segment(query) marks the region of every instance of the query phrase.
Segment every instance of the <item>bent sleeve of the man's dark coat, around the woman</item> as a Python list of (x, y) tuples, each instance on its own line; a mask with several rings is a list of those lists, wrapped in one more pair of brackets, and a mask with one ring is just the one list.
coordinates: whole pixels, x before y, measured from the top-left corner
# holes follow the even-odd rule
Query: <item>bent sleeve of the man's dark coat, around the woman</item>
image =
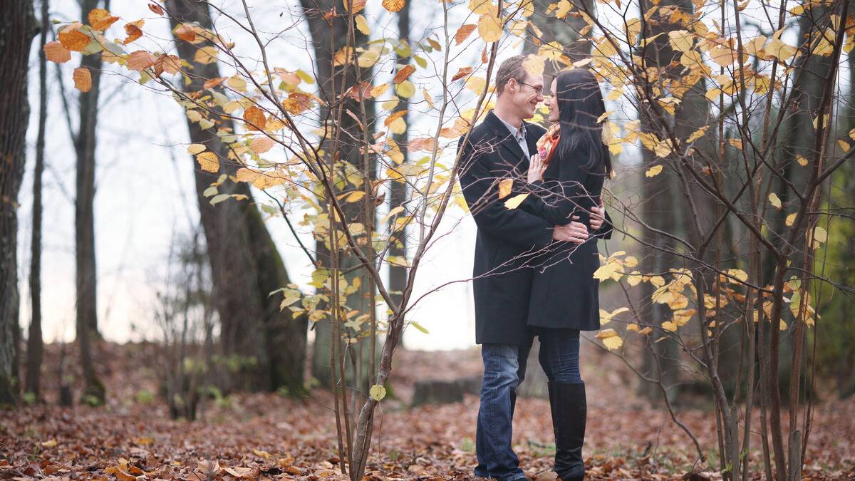
[[(471, 139), (470, 139), (471, 140)], [(540, 217), (522, 209), (508, 209), (498, 199), (498, 182), (492, 178), (488, 156), (479, 153), (471, 141), (461, 145), (460, 187), (475, 218), (475, 224), (483, 232), (523, 247), (543, 247), (552, 240), (552, 227)]]

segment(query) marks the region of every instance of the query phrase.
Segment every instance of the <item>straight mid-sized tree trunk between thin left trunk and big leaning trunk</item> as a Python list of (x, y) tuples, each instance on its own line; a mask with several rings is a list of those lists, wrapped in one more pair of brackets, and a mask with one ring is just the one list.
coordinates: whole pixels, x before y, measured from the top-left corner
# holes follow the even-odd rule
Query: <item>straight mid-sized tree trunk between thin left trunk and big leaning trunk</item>
[[(80, 3), (81, 18), (97, 9), (99, 0)], [(108, 6), (109, 8), (109, 6)], [(80, 123), (74, 139), (77, 154), (77, 196), (74, 199), (74, 253), (76, 260), (75, 286), (77, 289), (77, 341), (80, 344), (80, 363), (85, 389), (83, 401), (101, 404), (104, 401), (103, 383), (97, 378), (92, 360), (93, 336), (97, 338), (97, 269), (95, 265), (95, 149), (97, 140), (98, 94), (101, 84), (101, 56), (87, 55), (80, 61), (88, 68), (92, 86), (89, 92), (80, 92)]]

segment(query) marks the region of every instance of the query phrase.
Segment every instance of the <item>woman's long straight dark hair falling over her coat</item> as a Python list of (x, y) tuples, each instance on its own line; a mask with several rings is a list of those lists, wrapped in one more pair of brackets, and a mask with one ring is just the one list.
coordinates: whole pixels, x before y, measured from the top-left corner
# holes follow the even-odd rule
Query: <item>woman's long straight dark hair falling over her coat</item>
[(582, 169), (611, 175), (611, 157), (603, 144), (603, 124), (597, 122), (605, 113), (597, 79), (587, 68), (573, 68), (560, 72), (555, 82), (558, 122), (561, 124), (556, 153), (568, 158), (576, 149), (584, 148), (590, 156), (582, 164)]

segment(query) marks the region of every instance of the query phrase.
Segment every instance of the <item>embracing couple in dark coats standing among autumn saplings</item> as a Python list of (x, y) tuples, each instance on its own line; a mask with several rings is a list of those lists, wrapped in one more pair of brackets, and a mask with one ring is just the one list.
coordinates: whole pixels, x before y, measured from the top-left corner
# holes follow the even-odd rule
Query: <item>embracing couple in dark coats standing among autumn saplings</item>
[[(475, 475), (527, 479), (511, 448), (516, 388), (534, 336), (549, 380), (555, 465), (563, 481), (583, 479), (587, 404), (579, 333), (599, 329), (597, 240), (611, 223), (600, 193), (611, 174), (598, 122), (604, 102), (587, 68), (557, 74), (548, 95), (525, 56), (503, 62), (495, 108), (462, 149), (460, 183), (475, 218), (475, 341), (484, 377)], [(525, 122), (546, 100), (551, 128)], [(513, 179), (500, 199), (499, 182)], [(507, 184), (507, 182), (505, 182)], [(515, 209), (504, 200), (528, 196)]]

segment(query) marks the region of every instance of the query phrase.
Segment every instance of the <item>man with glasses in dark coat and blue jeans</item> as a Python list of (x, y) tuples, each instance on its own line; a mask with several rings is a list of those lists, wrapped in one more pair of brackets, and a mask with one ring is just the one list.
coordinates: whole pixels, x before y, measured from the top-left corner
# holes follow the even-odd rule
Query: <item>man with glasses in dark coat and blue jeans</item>
[[(475, 475), (500, 481), (528, 479), (510, 446), (516, 387), (525, 377), (533, 336), (527, 326), (534, 255), (552, 241), (581, 243), (587, 226), (551, 225), (526, 211), (525, 201), (508, 209), (504, 201), (525, 193), (528, 159), (545, 129), (528, 122), (543, 98), (543, 77), (523, 68), (525, 56), (504, 61), (496, 74), (495, 109), (472, 129), (462, 149), (460, 184), (478, 226), (473, 291), (475, 342), (481, 344), (484, 377), (475, 450)], [(463, 143), (463, 139), (461, 139)], [(510, 194), (498, 198), (498, 183), (513, 179)], [(595, 209), (591, 228), (602, 225)], [(576, 218), (576, 217), (575, 217)]]

